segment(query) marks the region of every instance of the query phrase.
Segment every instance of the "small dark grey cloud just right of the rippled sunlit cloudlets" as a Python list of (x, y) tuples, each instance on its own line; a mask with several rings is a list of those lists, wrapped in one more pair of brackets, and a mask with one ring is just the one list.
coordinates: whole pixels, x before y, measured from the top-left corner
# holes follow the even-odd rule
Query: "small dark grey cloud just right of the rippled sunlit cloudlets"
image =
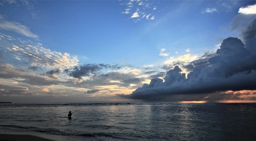
[[(74, 78), (82, 79), (84, 76), (96, 76), (99, 71), (102, 69), (116, 69), (120, 68), (118, 65), (108, 65), (108, 64), (86, 64), (86, 65), (80, 65), (75, 66), (72, 71), (70, 71), (69, 76), (72, 76)], [(64, 72), (69, 72), (65, 70)]]

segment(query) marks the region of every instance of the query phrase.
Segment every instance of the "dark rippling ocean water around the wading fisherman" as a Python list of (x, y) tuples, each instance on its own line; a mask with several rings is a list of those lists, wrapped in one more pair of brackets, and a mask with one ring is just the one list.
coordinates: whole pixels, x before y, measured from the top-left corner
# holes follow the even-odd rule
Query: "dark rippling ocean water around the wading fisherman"
[(0, 128), (80, 140), (256, 140), (256, 104), (0, 104)]

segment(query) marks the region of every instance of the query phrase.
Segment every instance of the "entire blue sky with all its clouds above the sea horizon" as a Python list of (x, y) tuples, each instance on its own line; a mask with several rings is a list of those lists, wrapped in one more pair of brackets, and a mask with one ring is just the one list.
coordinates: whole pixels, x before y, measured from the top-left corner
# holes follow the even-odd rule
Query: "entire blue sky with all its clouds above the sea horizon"
[(0, 101), (256, 102), (256, 1), (0, 1)]

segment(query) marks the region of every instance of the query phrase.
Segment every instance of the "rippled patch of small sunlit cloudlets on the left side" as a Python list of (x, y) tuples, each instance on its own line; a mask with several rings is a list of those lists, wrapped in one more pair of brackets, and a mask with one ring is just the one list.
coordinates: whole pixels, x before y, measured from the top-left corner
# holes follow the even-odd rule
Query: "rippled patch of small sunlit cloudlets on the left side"
[[(39, 44), (20, 44), (11, 47), (1, 48), (6, 52), (3, 60), (10, 61), (10, 58), (19, 60), (20, 65), (29, 65), (29, 69), (35, 68), (59, 68), (61, 71), (78, 65), (76, 56), (71, 57), (68, 53), (52, 52)], [(34, 68), (32, 68), (34, 67)]]

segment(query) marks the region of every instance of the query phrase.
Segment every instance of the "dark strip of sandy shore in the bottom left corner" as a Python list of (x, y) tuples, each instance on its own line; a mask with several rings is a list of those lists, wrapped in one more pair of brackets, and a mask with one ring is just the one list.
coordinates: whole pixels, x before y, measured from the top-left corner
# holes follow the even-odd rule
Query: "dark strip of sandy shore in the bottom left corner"
[(41, 132), (18, 132), (0, 129), (0, 141), (81, 141), (74, 137), (43, 134)]

